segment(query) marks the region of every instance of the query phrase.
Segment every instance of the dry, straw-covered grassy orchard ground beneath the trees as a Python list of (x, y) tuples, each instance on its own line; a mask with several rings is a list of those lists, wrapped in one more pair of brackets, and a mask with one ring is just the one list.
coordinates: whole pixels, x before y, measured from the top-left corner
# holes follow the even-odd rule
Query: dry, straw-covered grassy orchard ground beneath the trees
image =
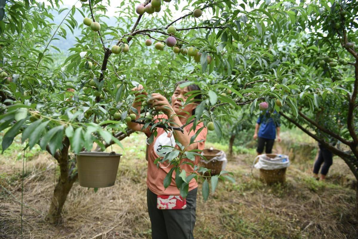
[[(2, 135), (1, 135), (2, 136)], [(266, 186), (251, 165), (253, 147), (234, 147), (227, 170), (236, 183), (219, 182), (204, 203), (201, 183), (197, 197), (194, 236), (203, 239), (238, 238), (358, 238), (353, 218), (354, 176), (338, 157), (326, 182), (311, 177), (316, 144), (299, 131), (282, 133), (275, 150), (293, 159), (285, 185)], [(115, 186), (93, 189), (74, 184), (63, 209), (63, 223), (44, 221), (59, 167), (47, 152), (28, 152), (24, 178), (24, 238), (151, 238), (146, 206), (145, 136), (132, 134), (122, 140), (123, 153)], [(19, 139), (18, 141), (19, 142)], [(252, 143), (252, 146), (254, 143)], [(228, 147), (207, 142), (206, 147)], [(111, 150), (111, 148), (108, 148)], [(22, 153), (19, 143), (0, 156), (0, 235), (21, 238)]]

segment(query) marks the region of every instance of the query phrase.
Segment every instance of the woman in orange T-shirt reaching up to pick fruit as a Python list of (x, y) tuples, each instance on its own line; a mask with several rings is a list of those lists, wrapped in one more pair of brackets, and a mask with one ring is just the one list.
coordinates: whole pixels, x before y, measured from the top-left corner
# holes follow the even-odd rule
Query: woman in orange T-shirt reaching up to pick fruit
[[(159, 122), (161, 119), (170, 119), (170, 125), (173, 127), (182, 127), (186, 124), (187, 119), (195, 115), (195, 108), (201, 99), (201, 94), (194, 97), (198, 102), (190, 102), (185, 104), (190, 91), (200, 91), (200, 88), (195, 85), (189, 85), (180, 88), (179, 85), (184, 81), (177, 82), (174, 87), (174, 93), (171, 96), (171, 103), (158, 93), (151, 94), (151, 98), (147, 101), (152, 108), (156, 111), (161, 111), (164, 114), (154, 116), (154, 123)], [(142, 85), (135, 87), (132, 91), (142, 91)], [(146, 92), (137, 93), (145, 94)], [(134, 102), (132, 104), (138, 112), (141, 111), (141, 102)], [(182, 107), (184, 106), (184, 107)], [(139, 115), (136, 119), (140, 118)], [(127, 122), (127, 125), (132, 130), (144, 132), (148, 137), (151, 135), (150, 128), (142, 129), (142, 125), (135, 122)], [(165, 145), (179, 148), (176, 142), (185, 146), (185, 151), (194, 149), (203, 150), (204, 143), (207, 135), (207, 129), (204, 128), (195, 141), (190, 144), (190, 138), (203, 127), (203, 122), (200, 122), (195, 130), (191, 130), (193, 123), (183, 127), (184, 133), (180, 131), (165, 132), (163, 128), (157, 128), (157, 135), (154, 137), (153, 142), (149, 145), (148, 150), (148, 170), (147, 170), (147, 205), (148, 213), (151, 221), (152, 238), (153, 239), (189, 239), (194, 238), (193, 230), (195, 225), (195, 209), (197, 199), (198, 183), (195, 179), (189, 182), (189, 192), (185, 199), (180, 196), (180, 191), (175, 184), (175, 171), (173, 171), (170, 185), (165, 189), (164, 178), (171, 170), (173, 165), (169, 162), (159, 163), (159, 167), (154, 164), (154, 160), (158, 157), (164, 157), (166, 152), (161, 151)], [(182, 159), (198, 165), (199, 156), (195, 157), (195, 161), (187, 158)], [(189, 164), (180, 165), (185, 172), (194, 172), (194, 169)], [(189, 174), (187, 173), (187, 176)]]

